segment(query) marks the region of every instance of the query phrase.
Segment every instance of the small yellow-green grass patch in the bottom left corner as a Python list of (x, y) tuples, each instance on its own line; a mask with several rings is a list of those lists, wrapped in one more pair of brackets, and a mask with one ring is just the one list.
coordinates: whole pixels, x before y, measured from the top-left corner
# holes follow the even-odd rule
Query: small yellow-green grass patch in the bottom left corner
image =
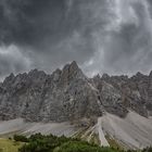
[(23, 143), (21, 142), (9, 139), (0, 139), (0, 152), (17, 152), (18, 148), (22, 145)]

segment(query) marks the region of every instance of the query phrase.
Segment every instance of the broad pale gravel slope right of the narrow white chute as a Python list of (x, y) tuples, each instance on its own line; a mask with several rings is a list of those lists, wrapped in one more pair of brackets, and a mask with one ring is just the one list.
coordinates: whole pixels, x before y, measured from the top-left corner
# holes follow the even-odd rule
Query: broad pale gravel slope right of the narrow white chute
[(105, 132), (129, 148), (142, 149), (152, 144), (151, 118), (135, 112), (129, 112), (124, 119), (106, 113), (101, 124)]

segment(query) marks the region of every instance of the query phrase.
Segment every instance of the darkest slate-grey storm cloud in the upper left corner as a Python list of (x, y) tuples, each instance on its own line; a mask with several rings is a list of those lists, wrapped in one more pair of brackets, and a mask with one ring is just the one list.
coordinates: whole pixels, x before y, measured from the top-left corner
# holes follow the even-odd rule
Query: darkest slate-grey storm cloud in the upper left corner
[(64, 0), (1, 0), (1, 40), (35, 46), (45, 37), (55, 40), (65, 31), (64, 7)]

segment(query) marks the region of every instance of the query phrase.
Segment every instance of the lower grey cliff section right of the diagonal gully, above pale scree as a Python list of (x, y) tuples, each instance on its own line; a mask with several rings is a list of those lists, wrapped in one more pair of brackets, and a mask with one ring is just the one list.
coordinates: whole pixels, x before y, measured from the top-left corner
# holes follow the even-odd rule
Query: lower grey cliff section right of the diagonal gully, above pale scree
[(132, 110), (142, 116), (152, 115), (152, 76), (137, 73), (127, 76), (109, 76), (93, 78), (102, 97), (102, 104), (110, 113), (125, 116)]

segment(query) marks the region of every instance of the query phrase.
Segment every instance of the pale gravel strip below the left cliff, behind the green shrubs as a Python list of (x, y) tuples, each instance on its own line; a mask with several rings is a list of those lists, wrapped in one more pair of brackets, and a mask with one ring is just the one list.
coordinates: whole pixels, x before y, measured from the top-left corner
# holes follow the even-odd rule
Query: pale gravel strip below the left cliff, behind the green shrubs
[(56, 136), (72, 136), (75, 134), (75, 127), (69, 123), (25, 123), (22, 118), (0, 122), (0, 135), (21, 132), (33, 135), (41, 132), (43, 135), (53, 134)]

